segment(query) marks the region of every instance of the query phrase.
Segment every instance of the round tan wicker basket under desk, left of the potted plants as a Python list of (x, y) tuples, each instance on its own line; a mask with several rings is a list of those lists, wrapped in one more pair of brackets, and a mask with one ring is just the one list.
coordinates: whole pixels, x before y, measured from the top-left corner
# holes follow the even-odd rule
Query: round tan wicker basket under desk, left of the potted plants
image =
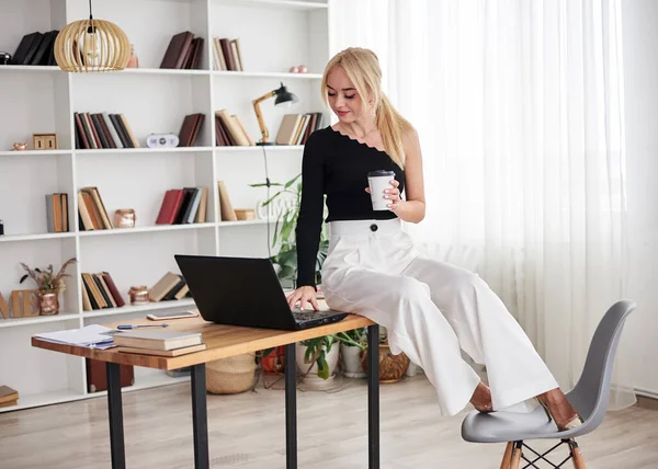
[(251, 389), (254, 376), (254, 353), (217, 359), (206, 365), (206, 389), (213, 394), (237, 394)]

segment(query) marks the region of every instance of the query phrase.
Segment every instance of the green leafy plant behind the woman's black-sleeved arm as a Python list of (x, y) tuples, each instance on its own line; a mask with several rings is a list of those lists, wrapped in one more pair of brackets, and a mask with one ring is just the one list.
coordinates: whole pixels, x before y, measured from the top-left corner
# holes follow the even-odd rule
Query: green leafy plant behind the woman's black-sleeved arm
[[(272, 247), (281, 243), (279, 253), (272, 255), (271, 261), (281, 267), (279, 278), (294, 283), (297, 277), (297, 241), (295, 236), (295, 227), (299, 217), (299, 207), (302, 204), (302, 173), (297, 174), (285, 183), (270, 183), (271, 186), (282, 187), (279, 192), (262, 203), (263, 207), (268, 207), (277, 198), (284, 195), (292, 197), (292, 203), (286, 206), (274, 225), (274, 236), (272, 237)], [(251, 187), (264, 187), (265, 183), (250, 184)], [(329, 236), (327, 226), (322, 224), (320, 232), (320, 244), (316, 258), (315, 281), (316, 284), (321, 283), (321, 270), (327, 251), (329, 250)]]

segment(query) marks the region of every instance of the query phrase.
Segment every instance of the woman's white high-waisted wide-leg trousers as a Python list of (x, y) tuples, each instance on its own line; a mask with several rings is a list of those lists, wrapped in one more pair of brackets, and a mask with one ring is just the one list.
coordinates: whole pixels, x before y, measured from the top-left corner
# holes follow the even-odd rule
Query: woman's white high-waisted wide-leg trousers
[(461, 350), (486, 365), (494, 410), (523, 407), (557, 381), (498, 296), (476, 274), (418, 253), (399, 219), (332, 221), (322, 265), (331, 309), (388, 330), (394, 354), (420, 365), (442, 415), (469, 402), (480, 381)]

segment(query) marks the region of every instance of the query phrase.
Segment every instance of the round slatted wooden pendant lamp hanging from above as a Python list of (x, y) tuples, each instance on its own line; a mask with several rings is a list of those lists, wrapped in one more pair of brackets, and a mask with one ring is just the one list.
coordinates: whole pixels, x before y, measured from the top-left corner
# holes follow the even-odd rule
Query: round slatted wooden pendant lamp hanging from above
[(89, 20), (67, 24), (55, 39), (55, 60), (71, 72), (123, 70), (131, 59), (128, 36), (116, 24), (94, 20), (89, 0)]

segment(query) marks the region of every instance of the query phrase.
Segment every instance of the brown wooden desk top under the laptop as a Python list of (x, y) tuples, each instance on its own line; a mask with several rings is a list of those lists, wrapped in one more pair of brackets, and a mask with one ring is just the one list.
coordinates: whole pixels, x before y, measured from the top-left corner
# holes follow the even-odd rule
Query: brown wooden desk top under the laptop
[[(109, 328), (125, 323), (125, 321), (106, 324)], [(132, 324), (152, 324), (148, 319), (132, 320)], [(178, 369), (200, 363), (213, 362), (218, 358), (239, 355), (248, 352), (257, 352), (293, 342), (318, 338), (320, 335), (334, 334), (337, 332), (351, 331), (353, 329), (373, 325), (370, 319), (358, 314), (349, 314), (342, 321), (332, 324), (310, 328), (303, 331), (281, 331), (274, 329), (245, 328), (237, 325), (215, 324), (206, 322), (201, 317), (189, 319), (168, 320), (168, 329), (185, 332), (201, 332), (202, 342), (206, 350), (177, 357), (162, 357), (155, 355), (139, 355), (133, 353), (116, 352), (113, 348), (94, 350), (76, 345), (56, 344), (32, 338), (32, 345), (54, 352), (69, 355), (83, 356), (87, 358), (113, 362), (123, 365), (144, 366), (158, 369)]]

